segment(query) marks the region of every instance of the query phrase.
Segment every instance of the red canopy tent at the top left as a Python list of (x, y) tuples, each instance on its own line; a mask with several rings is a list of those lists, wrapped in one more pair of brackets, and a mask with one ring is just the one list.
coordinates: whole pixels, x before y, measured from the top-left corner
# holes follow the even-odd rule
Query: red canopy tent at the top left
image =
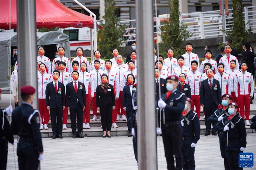
[[(11, 2), (11, 22), (10, 18)], [(17, 27), (16, 0), (0, 0), (0, 29)], [(26, 24), (26, 23), (24, 23)], [(93, 28), (93, 17), (69, 9), (58, 0), (36, 0), (36, 28)], [(98, 28), (102, 28), (97, 24)]]

